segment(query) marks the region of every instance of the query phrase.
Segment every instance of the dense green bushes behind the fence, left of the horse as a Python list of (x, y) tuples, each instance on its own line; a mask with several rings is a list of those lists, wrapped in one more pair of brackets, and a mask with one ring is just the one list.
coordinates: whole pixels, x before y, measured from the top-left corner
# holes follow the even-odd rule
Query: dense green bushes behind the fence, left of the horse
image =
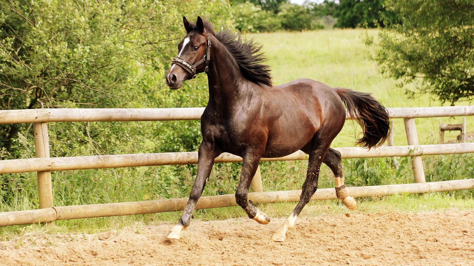
[[(185, 35), (182, 15), (226, 27), (229, 8), (226, 0), (1, 1), (0, 109), (205, 106), (205, 75), (173, 91), (164, 71)], [(201, 140), (199, 121), (48, 127), (52, 157), (196, 151)], [(35, 157), (32, 139), (31, 124), (0, 125), (0, 158)], [(194, 168), (57, 172), (55, 204), (143, 200), (142, 191), (147, 198), (183, 196), (191, 174), (181, 172)], [(2, 175), (0, 194), (2, 211), (36, 208), (36, 174)]]

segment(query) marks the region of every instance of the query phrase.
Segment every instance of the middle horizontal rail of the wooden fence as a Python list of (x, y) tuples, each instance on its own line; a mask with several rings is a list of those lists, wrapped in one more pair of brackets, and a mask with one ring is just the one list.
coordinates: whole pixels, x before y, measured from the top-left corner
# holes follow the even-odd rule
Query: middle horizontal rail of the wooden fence
[[(367, 150), (359, 147), (335, 148), (342, 158), (395, 157), (410, 155), (439, 155), (474, 152), (474, 143), (387, 146)], [(306, 160), (306, 154), (296, 151), (280, 158), (262, 158), (261, 161)], [(215, 163), (241, 162), (242, 158), (230, 153), (221, 154)], [(198, 163), (198, 152), (163, 152), (143, 154), (94, 155), (57, 158), (29, 158), (0, 160), (0, 174), (35, 171), (62, 171), (98, 168), (121, 168)]]

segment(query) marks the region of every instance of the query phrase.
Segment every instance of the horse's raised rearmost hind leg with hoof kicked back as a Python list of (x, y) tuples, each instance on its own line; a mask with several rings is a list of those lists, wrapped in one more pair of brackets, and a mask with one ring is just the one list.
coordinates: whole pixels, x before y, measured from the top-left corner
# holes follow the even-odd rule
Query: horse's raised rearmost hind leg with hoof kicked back
[(340, 199), (347, 209), (356, 209), (356, 200), (347, 193), (346, 185), (344, 184), (344, 175), (342, 173), (341, 153), (329, 148), (329, 151), (324, 157), (323, 163), (327, 165), (334, 173), (334, 184), (336, 187), (337, 198)]

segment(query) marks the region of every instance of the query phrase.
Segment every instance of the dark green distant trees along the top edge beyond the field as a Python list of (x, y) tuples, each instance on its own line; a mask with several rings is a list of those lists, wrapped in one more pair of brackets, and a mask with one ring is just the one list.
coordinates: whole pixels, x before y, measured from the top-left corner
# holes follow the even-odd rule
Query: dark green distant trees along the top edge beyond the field
[(334, 27), (385, 27), (387, 23), (398, 22), (397, 14), (385, 8), (385, 0), (340, 0), (327, 6), (337, 18)]

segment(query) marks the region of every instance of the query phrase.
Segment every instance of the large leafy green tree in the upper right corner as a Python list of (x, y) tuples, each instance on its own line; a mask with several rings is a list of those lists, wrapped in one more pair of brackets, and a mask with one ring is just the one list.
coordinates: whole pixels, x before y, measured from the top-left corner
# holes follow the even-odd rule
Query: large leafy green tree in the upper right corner
[[(454, 105), (474, 98), (474, 2), (412, 0), (387, 2), (401, 18), (379, 34), (374, 60), (402, 88), (430, 93)], [(372, 38), (367, 44), (374, 44)]]

